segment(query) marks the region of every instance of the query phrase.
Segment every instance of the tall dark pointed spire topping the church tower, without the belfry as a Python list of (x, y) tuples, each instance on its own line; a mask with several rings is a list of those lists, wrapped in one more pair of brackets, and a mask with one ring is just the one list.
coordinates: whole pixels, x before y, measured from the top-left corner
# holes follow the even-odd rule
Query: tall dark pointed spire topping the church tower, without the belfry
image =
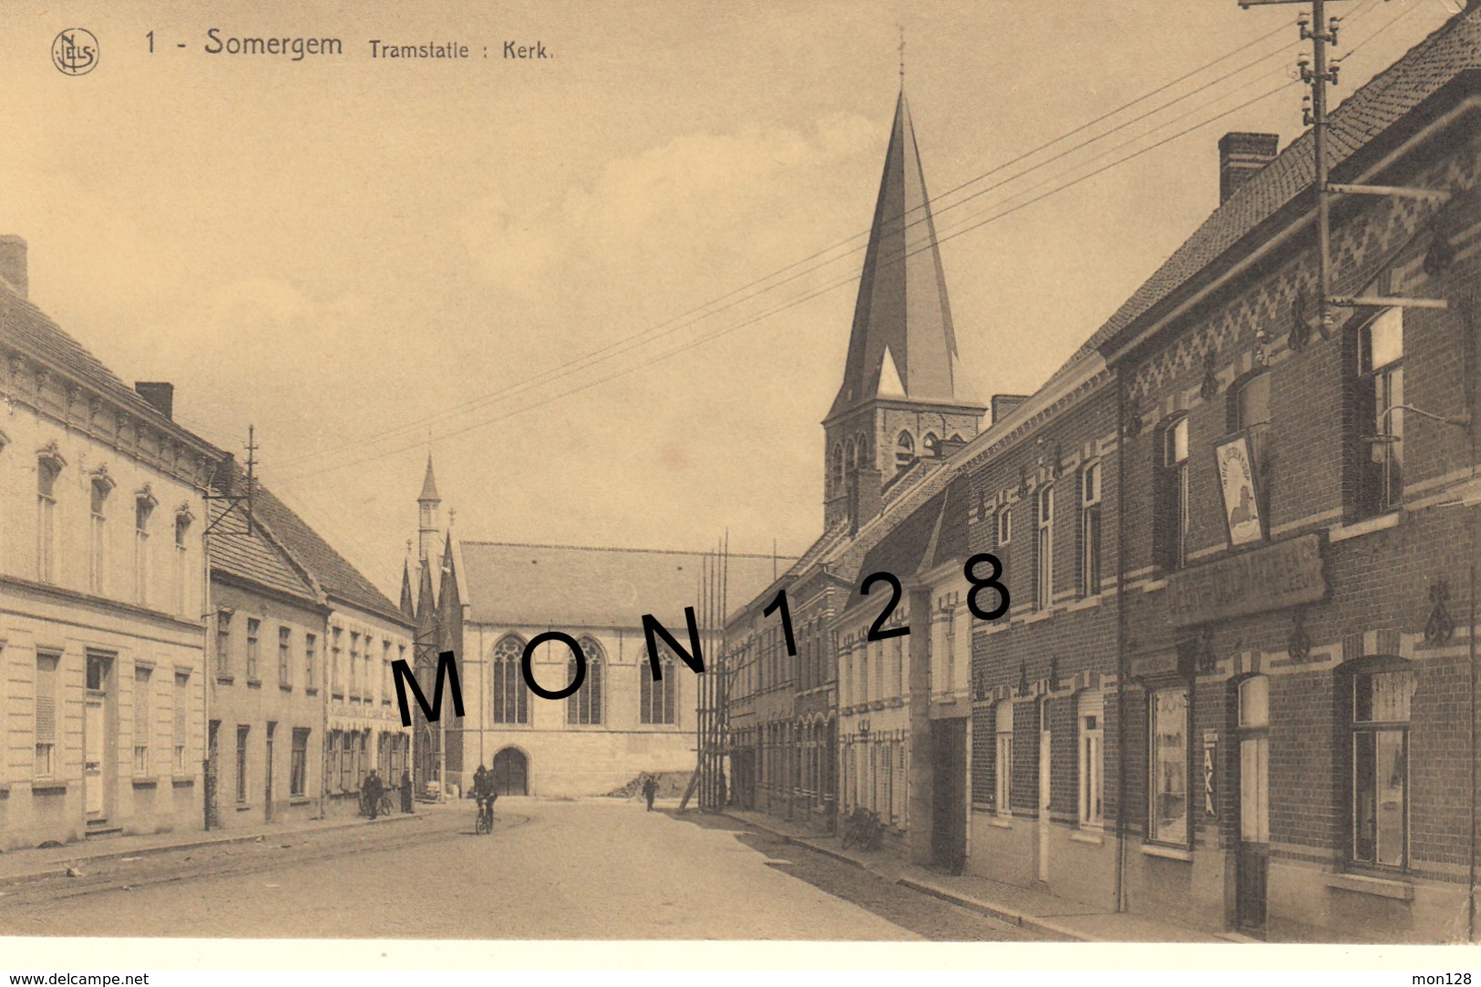
[[(902, 37), (902, 71), (903, 55)], [(902, 77), (859, 279), (849, 362), (828, 418), (880, 396), (881, 385), (893, 391), (892, 370), (906, 400), (969, 403), (955, 379), (957, 335), (929, 202)], [(895, 366), (887, 369), (887, 360)]]

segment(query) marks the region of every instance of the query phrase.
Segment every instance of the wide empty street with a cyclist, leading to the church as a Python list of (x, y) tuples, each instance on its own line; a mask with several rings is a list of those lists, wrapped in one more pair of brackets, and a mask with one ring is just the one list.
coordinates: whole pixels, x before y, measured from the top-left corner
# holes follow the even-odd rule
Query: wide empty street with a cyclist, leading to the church
[[(0, 888), (0, 934), (293, 938), (1025, 940), (729, 818), (502, 799), (422, 818), (98, 861)], [(758, 903), (766, 903), (760, 905)]]

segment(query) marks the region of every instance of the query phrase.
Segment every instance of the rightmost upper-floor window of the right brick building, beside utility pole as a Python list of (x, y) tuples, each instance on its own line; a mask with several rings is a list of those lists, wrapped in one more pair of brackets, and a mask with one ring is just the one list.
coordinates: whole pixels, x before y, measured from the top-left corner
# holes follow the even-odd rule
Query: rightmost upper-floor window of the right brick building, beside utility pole
[(1404, 495), (1404, 310), (1386, 308), (1358, 330), (1358, 511), (1394, 510)]

